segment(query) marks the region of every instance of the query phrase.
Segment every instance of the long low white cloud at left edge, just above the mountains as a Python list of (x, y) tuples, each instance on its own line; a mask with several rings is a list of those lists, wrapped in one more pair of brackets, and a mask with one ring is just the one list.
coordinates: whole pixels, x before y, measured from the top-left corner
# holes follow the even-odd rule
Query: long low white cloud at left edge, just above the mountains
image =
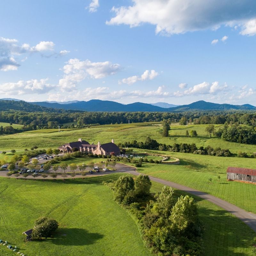
[(22, 95), (36, 93), (41, 94), (49, 92), (55, 85), (47, 83), (46, 79), (31, 79), (28, 81), (20, 80), (17, 83), (0, 84), (0, 91), (5, 95)]

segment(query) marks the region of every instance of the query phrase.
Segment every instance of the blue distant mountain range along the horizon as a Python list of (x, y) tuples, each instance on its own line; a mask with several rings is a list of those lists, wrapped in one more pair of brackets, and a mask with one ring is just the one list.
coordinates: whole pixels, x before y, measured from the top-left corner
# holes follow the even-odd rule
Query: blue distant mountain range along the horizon
[[(204, 100), (196, 101), (188, 105), (181, 105), (175, 107), (166, 108), (168, 103), (158, 102), (155, 105), (141, 102), (134, 102), (131, 104), (121, 104), (115, 101), (109, 100), (89, 100), (89, 101), (67, 101), (67, 102), (26, 102), (18, 101), (16, 99), (0, 100), (0, 110), (16, 109), (24, 110), (30, 108), (30, 111), (46, 111), (47, 108), (52, 109), (65, 109), (65, 110), (80, 110), (80, 111), (106, 111), (106, 112), (183, 112), (189, 110), (256, 110), (256, 107), (250, 104), (244, 105), (231, 105), (231, 104), (218, 104), (206, 102)], [(160, 106), (165, 107), (160, 107)], [(168, 105), (166, 105), (168, 104)], [(33, 107), (31, 106), (33, 105)], [(38, 108), (39, 107), (39, 108)], [(39, 111), (40, 111), (39, 110)]]

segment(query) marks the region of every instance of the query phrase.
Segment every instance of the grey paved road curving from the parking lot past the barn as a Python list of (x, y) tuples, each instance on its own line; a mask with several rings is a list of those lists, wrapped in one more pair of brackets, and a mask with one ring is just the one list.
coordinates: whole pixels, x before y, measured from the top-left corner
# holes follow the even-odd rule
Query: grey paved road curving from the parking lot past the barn
[[(86, 176), (97, 176), (97, 175), (106, 175), (106, 174), (110, 174), (110, 173), (116, 173), (116, 172), (126, 172), (126, 173), (130, 173), (132, 175), (140, 175), (141, 173), (136, 172), (136, 169), (132, 166), (129, 165), (125, 165), (125, 164), (119, 164), (116, 163), (116, 171), (108, 171), (108, 172), (95, 172), (93, 174), (86, 174)], [(6, 176), (6, 171), (1, 171), (0, 172), (0, 176)], [(82, 175), (76, 175), (76, 178), (81, 178)], [(14, 177), (13, 177), (14, 178)], [(18, 178), (24, 178), (24, 177), (18, 177)], [(237, 207), (234, 204), (230, 204), (218, 197), (209, 195), (205, 192), (196, 190), (194, 188), (189, 188), (183, 185), (180, 185), (178, 183), (174, 183), (172, 181), (168, 181), (168, 180), (163, 180), (163, 179), (159, 179), (153, 176), (149, 176), (150, 180), (159, 182), (163, 185), (169, 186), (169, 187), (173, 187), (182, 191), (185, 191), (191, 195), (195, 195), (198, 196), (200, 198), (203, 198), (205, 200), (208, 200), (209, 202), (216, 204), (218, 206), (220, 206), (221, 208), (223, 208), (224, 210), (226, 210), (227, 212), (232, 213), (233, 215), (235, 215), (238, 219), (242, 220), (246, 225), (248, 225), (250, 228), (252, 228), (252, 230), (254, 230), (256, 232), (256, 214), (254, 213), (250, 213), (250, 212), (246, 212), (243, 209)], [(32, 179), (32, 177), (31, 177)], [(33, 178), (34, 179), (34, 178)], [(39, 175), (38, 177), (36, 177), (36, 179), (42, 179), (42, 177)], [(53, 179), (52, 177), (48, 176), (46, 179)], [(60, 179), (63, 179), (62, 177)], [(67, 177), (67, 179), (70, 179), (70, 177)]]

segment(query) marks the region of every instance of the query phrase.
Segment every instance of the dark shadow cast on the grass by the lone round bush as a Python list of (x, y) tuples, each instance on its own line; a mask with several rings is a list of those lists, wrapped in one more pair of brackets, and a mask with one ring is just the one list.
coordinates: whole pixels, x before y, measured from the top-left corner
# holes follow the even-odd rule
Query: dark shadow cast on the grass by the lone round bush
[(33, 240), (35, 242), (51, 243), (56, 245), (89, 245), (102, 239), (104, 235), (100, 233), (90, 233), (83, 228), (59, 228), (53, 238)]

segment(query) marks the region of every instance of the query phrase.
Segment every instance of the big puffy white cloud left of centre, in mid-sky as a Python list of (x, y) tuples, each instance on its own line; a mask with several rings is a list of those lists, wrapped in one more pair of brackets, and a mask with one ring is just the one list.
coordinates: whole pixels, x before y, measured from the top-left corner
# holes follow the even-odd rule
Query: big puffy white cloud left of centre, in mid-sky
[(119, 70), (120, 65), (112, 64), (110, 61), (92, 62), (90, 60), (70, 59), (63, 67), (64, 76), (60, 79), (59, 85), (63, 91), (72, 91), (76, 84), (83, 81), (87, 76), (100, 79), (114, 75)]

